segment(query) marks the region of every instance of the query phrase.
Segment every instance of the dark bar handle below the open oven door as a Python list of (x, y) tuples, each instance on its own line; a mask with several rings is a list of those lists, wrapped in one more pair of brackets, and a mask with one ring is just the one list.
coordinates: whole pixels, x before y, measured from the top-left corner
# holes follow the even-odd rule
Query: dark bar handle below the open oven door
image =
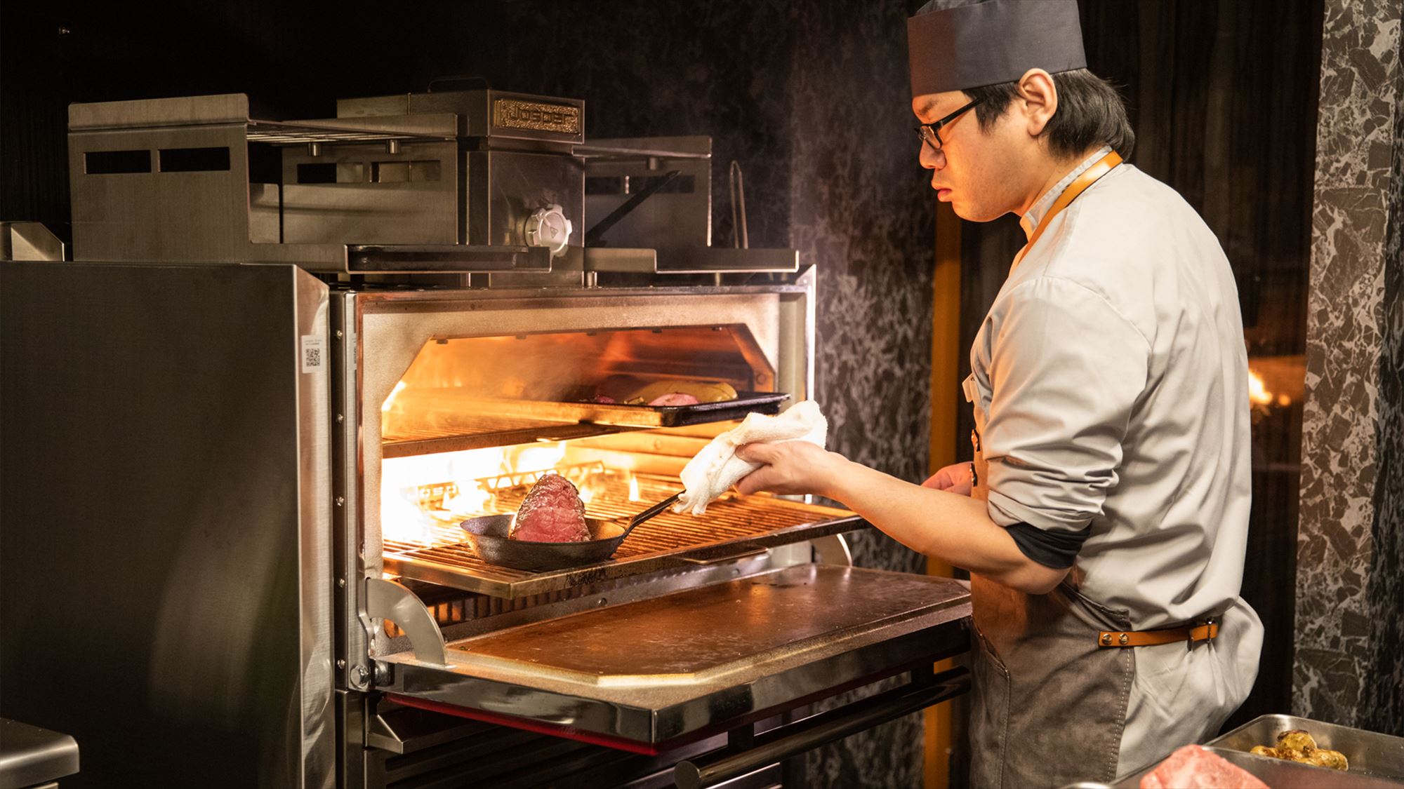
[(913, 671), (911, 682), (900, 688), (771, 729), (750, 741), (733, 733), (733, 745), (678, 762), (673, 768), (673, 781), (680, 789), (712, 786), (952, 699), (969, 689), (969, 668), (952, 668), (941, 674)]

